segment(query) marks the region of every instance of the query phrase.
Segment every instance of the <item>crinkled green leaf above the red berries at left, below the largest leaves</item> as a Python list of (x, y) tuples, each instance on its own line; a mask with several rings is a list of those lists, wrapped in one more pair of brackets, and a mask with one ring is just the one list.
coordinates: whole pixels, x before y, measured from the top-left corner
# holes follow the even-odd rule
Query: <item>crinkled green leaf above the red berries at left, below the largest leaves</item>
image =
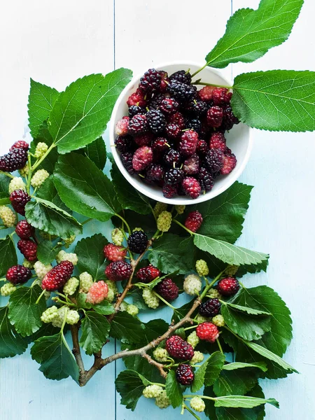
[(34, 228), (62, 238), (82, 233), (82, 225), (71, 214), (42, 198), (35, 197), (35, 200), (25, 207), (27, 221)]

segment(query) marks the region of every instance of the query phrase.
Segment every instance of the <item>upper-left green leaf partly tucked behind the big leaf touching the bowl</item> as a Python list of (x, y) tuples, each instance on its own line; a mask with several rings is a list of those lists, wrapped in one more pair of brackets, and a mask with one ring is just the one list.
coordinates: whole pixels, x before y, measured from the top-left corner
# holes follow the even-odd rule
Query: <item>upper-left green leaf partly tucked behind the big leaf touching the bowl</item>
[(59, 92), (53, 87), (42, 85), (31, 79), (28, 109), (29, 130), (33, 139), (36, 138), (42, 123), (48, 119), (57, 97), (59, 97)]

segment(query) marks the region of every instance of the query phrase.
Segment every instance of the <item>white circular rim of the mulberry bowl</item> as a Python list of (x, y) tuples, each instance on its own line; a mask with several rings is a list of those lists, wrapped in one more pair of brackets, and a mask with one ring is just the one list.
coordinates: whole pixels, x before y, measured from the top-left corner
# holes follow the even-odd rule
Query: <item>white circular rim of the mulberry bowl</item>
[[(166, 66), (198, 66), (198, 67), (202, 67), (204, 66), (204, 62), (202, 64), (200, 64), (199, 62), (192, 62), (192, 61), (184, 61), (184, 60), (176, 60), (174, 62), (162, 62), (155, 64), (154, 62), (152, 63), (152, 67), (154, 67), (155, 69), (162, 69), (163, 67)], [(211, 71), (212, 73), (215, 73), (217, 76), (220, 76), (221, 78), (223, 78), (223, 80), (225, 80), (225, 82), (227, 83), (227, 85), (232, 86), (233, 83), (230, 80), (230, 78), (225, 77), (225, 75), (223, 75), (223, 73), (220, 70), (214, 69), (212, 67), (206, 67), (209, 71)], [(151, 198), (152, 200), (158, 201), (158, 202), (163, 202), (165, 204), (176, 204), (176, 205), (194, 205), (194, 204), (199, 204), (202, 202), (206, 202), (208, 200), (212, 200), (214, 197), (217, 197), (218, 195), (224, 193), (225, 190), (228, 190), (228, 188), (230, 188), (230, 186), (232, 186), (233, 183), (235, 183), (235, 181), (237, 181), (237, 179), (239, 178), (239, 176), (241, 176), (241, 174), (244, 172), (244, 169), (248, 163), (249, 157), (251, 155), (251, 151), (253, 148), (253, 128), (249, 127), (249, 125), (246, 125), (246, 127), (248, 127), (248, 146), (246, 149), (246, 154), (244, 156), (243, 161), (241, 162), (241, 165), (239, 165), (239, 168), (237, 170), (237, 172), (235, 172), (235, 174), (233, 174), (230, 176), (229, 179), (227, 179), (226, 183), (223, 184), (223, 186), (219, 187), (216, 191), (211, 190), (209, 191), (209, 193), (205, 193), (204, 195), (200, 195), (199, 197), (197, 197), (196, 199), (192, 200), (191, 198), (181, 198), (181, 197), (176, 197), (176, 198), (166, 198), (164, 196), (162, 197), (157, 197), (157, 195), (155, 194), (154, 190), (152, 191), (147, 191), (145, 188), (143, 188), (141, 185), (139, 185), (139, 183), (137, 183), (136, 181), (134, 181), (133, 177), (128, 174), (127, 170), (125, 169), (125, 167), (123, 166), (123, 163), (120, 160), (120, 157), (118, 155), (118, 152), (116, 151), (116, 148), (114, 146), (114, 140), (116, 138), (116, 134), (115, 134), (115, 126), (116, 126), (116, 113), (118, 111), (118, 108), (120, 106), (120, 103), (123, 101), (123, 97), (125, 97), (126, 92), (128, 92), (130, 90), (131, 87), (133, 87), (136, 83), (139, 83), (140, 78), (143, 76), (144, 73), (138, 73), (136, 76), (134, 76), (132, 78), (132, 80), (130, 80), (130, 82), (124, 87), (124, 89), (122, 90), (122, 92), (120, 92), (120, 95), (116, 101), (115, 106), (113, 107), (113, 112), (111, 114), (111, 120), (109, 122), (109, 145), (111, 148), (111, 152), (113, 154), (113, 158), (116, 162), (116, 165), (118, 166), (118, 169), (120, 170), (121, 174), (123, 174), (124, 178), (126, 179), (127, 182), (129, 182), (137, 191), (139, 191), (139, 193), (143, 194), (146, 197)], [(243, 123), (241, 123), (243, 124)], [(113, 151), (112, 151), (113, 148)], [(212, 194), (211, 194), (212, 193)], [(209, 197), (209, 195), (211, 194), (211, 197)]]

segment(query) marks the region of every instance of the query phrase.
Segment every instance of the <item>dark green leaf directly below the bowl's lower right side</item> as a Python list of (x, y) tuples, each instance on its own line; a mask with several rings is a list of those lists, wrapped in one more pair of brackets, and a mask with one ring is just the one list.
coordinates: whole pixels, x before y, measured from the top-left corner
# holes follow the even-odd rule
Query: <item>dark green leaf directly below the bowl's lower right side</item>
[(241, 235), (253, 187), (235, 182), (224, 193), (195, 207), (204, 221), (198, 233), (234, 243)]

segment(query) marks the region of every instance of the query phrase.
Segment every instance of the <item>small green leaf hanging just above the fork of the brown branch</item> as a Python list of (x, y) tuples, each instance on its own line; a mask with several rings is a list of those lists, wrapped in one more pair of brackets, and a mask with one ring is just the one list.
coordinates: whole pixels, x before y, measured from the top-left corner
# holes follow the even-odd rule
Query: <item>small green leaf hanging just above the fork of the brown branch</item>
[(80, 337), (80, 346), (85, 350), (85, 353), (91, 356), (101, 350), (109, 337), (110, 329), (111, 324), (105, 316), (93, 311), (85, 312)]

